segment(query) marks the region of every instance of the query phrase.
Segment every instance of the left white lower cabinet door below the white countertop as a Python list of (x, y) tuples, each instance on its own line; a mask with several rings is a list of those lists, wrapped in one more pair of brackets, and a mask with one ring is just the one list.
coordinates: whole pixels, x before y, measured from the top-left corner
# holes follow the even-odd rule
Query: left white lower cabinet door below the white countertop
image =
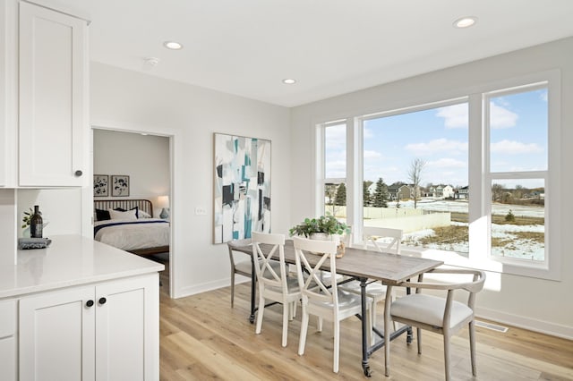
[(94, 379), (93, 286), (25, 297), (19, 309), (21, 381)]

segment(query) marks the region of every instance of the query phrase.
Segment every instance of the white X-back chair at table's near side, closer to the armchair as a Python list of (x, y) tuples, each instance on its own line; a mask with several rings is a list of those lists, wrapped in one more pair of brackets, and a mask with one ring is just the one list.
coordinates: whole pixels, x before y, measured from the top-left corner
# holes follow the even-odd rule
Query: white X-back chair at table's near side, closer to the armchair
[[(336, 275), (337, 243), (335, 241), (315, 241), (301, 237), (293, 239), (295, 245), (296, 274), (300, 284), (303, 312), (298, 354), (304, 354), (309, 317), (319, 320), (318, 330), (322, 331), (322, 319), (332, 321), (334, 331), (334, 353), (332, 371), (338, 373), (340, 351), (340, 321), (362, 313), (360, 296), (338, 290), (336, 282), (324, 284), (321, 279), (321, 267), (327, 266), (332, 275)], [(314, 254), (318, 253), (318, 254)], [(304, 276), (306, 273), (306, 276)], [(371, 301), (366, 301), (366, 325), (372, 330)]]

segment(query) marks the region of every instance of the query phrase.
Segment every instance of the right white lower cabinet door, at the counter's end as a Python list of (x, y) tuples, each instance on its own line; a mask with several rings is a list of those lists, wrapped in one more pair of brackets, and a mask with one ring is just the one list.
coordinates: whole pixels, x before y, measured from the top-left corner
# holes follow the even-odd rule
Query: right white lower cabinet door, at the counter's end
[(96, 287), (96, 379), (159, 379), (157, 274)]

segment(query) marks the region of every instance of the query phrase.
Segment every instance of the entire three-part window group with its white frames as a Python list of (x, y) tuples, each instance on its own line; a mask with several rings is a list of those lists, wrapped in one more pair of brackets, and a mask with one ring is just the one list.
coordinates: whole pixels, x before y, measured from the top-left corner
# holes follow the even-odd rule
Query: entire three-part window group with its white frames
[(447, 264), (559, 278), (558, 77), (319, 125), (321, 209)]

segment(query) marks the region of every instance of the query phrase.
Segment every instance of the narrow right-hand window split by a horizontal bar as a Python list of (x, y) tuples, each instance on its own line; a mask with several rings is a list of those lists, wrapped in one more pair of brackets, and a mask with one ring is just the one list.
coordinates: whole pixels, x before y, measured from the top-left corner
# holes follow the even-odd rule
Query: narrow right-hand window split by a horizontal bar
[(484, 95), (489, 131), (491, 254), (545, 260), (547, 84)]

